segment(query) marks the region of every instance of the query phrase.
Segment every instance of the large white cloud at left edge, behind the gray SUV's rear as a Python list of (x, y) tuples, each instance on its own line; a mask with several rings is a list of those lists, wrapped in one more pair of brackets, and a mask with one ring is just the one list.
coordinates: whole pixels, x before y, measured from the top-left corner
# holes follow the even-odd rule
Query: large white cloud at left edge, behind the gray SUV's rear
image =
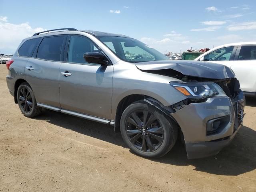
[(28, 23), (12, 24), (0, 22), (0, 52), (14, 53), (20, 42), (36, 32), (44, 31), (43, 28), (32, 28)]

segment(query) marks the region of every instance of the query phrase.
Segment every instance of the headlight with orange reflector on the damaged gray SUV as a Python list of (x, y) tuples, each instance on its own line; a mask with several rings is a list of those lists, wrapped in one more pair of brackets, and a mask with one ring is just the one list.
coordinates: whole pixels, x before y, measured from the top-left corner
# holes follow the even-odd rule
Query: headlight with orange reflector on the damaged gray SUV
[(203, 99), (209, 96), (226, 96), (222, 88), (216, 83), (170, 82), (170, 85), (191, 99)]

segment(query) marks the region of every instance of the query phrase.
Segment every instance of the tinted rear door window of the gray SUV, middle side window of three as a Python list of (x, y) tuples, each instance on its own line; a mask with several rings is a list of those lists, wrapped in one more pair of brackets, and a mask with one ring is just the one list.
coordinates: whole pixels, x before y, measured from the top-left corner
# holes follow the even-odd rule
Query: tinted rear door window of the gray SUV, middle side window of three
[(37, 58), (59, 61), (64, 36), (47, 37), (38, 47)]

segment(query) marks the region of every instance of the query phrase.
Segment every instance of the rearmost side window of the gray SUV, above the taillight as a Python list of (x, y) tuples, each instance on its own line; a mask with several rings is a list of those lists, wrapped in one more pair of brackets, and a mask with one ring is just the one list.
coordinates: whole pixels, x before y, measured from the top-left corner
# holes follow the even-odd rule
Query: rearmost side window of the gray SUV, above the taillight
[(20, 47), (18, 51), (19, 56), (31, 57), (39, 41), (40, 41), (40, 38), (36, 38), (36, 39), (30, 39), (24, 42), (24, 44)]

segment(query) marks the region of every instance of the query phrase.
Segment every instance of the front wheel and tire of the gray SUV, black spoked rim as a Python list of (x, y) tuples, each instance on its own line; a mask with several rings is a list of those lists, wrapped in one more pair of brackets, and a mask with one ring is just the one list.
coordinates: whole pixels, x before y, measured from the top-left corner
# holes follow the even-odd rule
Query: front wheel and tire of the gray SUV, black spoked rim
[(178, 136), (176, 123), (142, 100), (124, 110), (120, 130), (130, 150), (146, 158), (164, 156), (172, 149)]

